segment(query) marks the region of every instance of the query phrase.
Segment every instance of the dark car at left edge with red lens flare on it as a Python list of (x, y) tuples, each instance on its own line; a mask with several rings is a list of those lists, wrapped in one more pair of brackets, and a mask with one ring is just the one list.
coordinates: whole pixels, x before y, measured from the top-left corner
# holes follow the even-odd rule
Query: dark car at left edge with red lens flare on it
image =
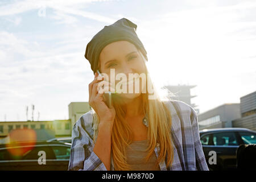
[[(20, 142), (14, 144), (1, 144), (0, 171), (67, 171), (70, 150), (70, 143), (60, 142)], [(45, 164), (43, 163), (43, 155), (45, 156), (44, 159), (46, 159)]]

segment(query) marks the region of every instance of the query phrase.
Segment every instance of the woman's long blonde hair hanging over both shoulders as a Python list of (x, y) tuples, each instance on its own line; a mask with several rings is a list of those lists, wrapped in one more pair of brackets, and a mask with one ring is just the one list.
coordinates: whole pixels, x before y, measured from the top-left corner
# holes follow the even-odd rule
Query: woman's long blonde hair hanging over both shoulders
[[(148, 73), (147, 68), (146, 72)], [(171, 113), (166, 104), (160, 99), (155, 86), (152, 84), (151, 78), (148, 78), (149, 79), (147, 79), (146, 82), (147, 84), (148, 82), (151, 82), (152, 89), (154, 89), (155, 99), (148, 99), (148, 90), (146, 93), (141, 93), (143, 112), (148, 120), (147, 138), (149, 144), (147, 148), (148, 154), (145, 160), (147, 161), (150, 159), (151, 155), (154, 155), (156, 144), (159, 143), (160, 151), (158, 153), (156, 165), (159, 165), (160, 162), (165, 160), (166, 165), (171, 166), (174, 158), (174, 147), (171, 137)], [(118, 99), (120, 99), (118, 96), (114, 96), (113, 98), (113, 106), (116, 114), (111, 136), (112, 157), (115, 170), (127, 171), (131, 170), (131, 167), (127, 164), (126, 147), (133, 142), (133, 139), (130, 125), (125, 119), (125, 107), (119, 104)], [(96, 125), (100, 122), (97, 114), (94, 114), (93, 120)], [(96, 140), (97, 132), (98, 131), (94, 132), (94, 142)]]

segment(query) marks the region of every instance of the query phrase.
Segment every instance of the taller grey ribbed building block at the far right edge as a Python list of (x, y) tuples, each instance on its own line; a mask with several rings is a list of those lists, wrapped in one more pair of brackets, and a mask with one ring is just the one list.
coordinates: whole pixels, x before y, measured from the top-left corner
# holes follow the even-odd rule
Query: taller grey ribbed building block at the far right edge
[(240, 98), (241, 118), (233, 121), (233, 127), (245, 127), (256, 131), (256, 91)]

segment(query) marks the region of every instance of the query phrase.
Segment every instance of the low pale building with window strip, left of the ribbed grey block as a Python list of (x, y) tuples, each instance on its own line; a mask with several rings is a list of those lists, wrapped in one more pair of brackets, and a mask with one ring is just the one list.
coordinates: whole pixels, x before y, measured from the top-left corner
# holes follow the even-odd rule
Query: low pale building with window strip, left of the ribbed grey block
[(240, 104), (223, 104), (197, 115), (199, 129), (233, 127), (232, 121), (241, 118)]

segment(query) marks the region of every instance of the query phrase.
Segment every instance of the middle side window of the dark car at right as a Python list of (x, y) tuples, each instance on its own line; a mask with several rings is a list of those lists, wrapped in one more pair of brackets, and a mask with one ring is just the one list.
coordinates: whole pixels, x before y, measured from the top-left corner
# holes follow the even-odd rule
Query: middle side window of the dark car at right
[(223, 132), (213, 134), (214, 146), (238, 146), (234, 132)]

